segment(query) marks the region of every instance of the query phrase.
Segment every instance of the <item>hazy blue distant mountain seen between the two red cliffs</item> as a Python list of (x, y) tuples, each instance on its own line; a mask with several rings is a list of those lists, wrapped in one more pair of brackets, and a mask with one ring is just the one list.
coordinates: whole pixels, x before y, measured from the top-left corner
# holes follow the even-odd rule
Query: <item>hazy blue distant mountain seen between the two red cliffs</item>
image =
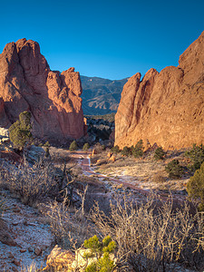
[(84, 114), (101, 115), (117, 112), (121, 91), (128, 78), (112, 81), (81, 75), (81, 81)]

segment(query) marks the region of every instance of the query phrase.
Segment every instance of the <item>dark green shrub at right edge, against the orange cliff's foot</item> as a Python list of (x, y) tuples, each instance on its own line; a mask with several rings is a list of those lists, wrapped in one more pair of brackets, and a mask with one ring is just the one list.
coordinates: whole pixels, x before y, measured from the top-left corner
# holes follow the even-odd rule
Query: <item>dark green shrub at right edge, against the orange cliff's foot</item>
[(192, 149), (185, 152), (185, 156), (192, 161), (189, 169), (193, 171), (198, 170), (204, 161), (204, 146), (202, 144), (198, 146), (194, 143)]

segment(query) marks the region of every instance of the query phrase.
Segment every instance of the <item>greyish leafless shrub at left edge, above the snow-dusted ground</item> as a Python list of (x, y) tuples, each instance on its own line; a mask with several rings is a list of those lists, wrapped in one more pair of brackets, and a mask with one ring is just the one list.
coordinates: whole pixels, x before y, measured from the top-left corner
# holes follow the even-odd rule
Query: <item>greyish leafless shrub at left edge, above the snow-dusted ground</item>
[(1, 184), (17, 195), (24, 204), (34, 205), (59, 190), (56, 170), (49, 162), (15, 166), (4, 162), (1, 166)]

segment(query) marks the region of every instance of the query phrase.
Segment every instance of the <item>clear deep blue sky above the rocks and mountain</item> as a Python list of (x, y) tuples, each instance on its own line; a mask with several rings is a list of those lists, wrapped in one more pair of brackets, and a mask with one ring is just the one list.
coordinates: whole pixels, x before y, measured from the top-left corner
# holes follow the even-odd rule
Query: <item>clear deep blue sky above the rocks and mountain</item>
[(10, 0), (0, 8), (0, 52), (32, 39), (52, 70), (109, 79), (177, 66), (204, 30), (204, 0)]

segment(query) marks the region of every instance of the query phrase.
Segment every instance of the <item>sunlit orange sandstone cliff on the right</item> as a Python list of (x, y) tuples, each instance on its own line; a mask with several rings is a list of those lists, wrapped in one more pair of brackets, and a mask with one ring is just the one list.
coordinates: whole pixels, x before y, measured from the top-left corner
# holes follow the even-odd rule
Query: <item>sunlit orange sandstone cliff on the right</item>
[(136, 73), (124, 85), (115, 116), (115, 145), (143, 140), (164, 149), (204, 143), (204, 32), (178, 67)]

